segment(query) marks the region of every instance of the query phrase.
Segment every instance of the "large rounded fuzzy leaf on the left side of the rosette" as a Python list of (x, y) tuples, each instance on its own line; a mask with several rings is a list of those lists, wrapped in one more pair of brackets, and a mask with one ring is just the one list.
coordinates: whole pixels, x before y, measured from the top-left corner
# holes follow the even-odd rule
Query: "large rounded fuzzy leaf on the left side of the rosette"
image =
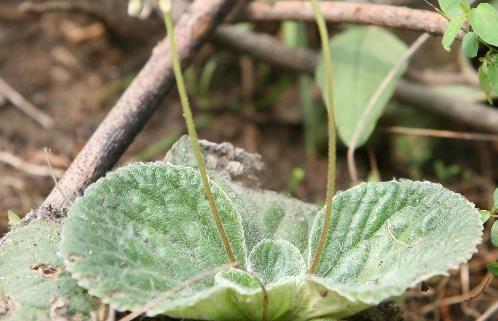
[[(244, 266), (240, 214), (217, 184), (212, 189), (230, 245)], [(80, 286), (125, 310), (229, 263), (198, 172), (160, 162), (130, 165), (91, 185), (69, 210), (61, 252)], [(189, 296), (213, 282), (207, 278)]]

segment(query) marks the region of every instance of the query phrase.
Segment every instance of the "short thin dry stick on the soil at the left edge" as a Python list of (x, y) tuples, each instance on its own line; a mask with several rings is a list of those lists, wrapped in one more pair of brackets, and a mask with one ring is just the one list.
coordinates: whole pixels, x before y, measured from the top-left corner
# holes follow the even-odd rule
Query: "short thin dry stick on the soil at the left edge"
[(4, 96), (5, 98), (7, 98), (14, 106), (19, 108), (23, 113), (25, 113), (29, 118), (34, 120), (41, 127), (54, 127), (55, 121), (52, 119), (52, 117), (36, 108), (1, 77), (0, 96)]

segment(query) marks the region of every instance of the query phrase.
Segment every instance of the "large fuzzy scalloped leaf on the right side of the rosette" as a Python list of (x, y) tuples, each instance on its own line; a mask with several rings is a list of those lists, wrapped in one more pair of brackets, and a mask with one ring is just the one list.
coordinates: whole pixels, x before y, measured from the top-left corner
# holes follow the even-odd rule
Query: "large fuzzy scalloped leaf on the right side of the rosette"
[[(311, 253), (323, 220), (324, 211), (313, 228)], [(334, 198), (315, 282), (352, 302), (377, 304), (470, 259), (482, 228), (474, 205), (441, 185), (363, 183)]]

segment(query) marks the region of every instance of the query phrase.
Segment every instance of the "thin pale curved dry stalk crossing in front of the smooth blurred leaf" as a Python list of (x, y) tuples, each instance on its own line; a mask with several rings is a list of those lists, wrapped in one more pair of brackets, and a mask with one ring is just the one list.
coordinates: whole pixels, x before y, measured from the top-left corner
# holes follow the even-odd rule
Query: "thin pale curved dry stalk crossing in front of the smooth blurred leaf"
[(353, 185), (358, 184), (358, 171), (356, 170), (356, 164), (354, 159), (354, 151), (356, 146), (358, 145), (358, 141), (360, 140), (361, 134), (365, 130), (365, 126), (367, 125), (368, 117), (372, 113), (375, 105), (379, 102), (379, 99), (382, 97), (382, 94), (386, 91), (387, 86), (393, 81), (394, 77), (398, 75), (403, 66), (407, 63), (408, 60), (417, 52), (418, 49), (429, 40), (430, 35), (428, 33), (423, 33), (420, 35), (415, 42), (408, 48), (408, 50), (404, 53), (404, 55), (399, 59), (399, 61), (389, 70), (389, 73), (386, 75), (380, 86), (377, 88), (373, 96), (370, 98), (367, 107), (363, 110), (360, 120), (356, 124), (355, 130), (353, 132), (353, 137), (351, 138), (351, 142), (349, 143), (347, 159), (348, 159), (348, 169), (349, 175), (351, 176), (351, 181)]

